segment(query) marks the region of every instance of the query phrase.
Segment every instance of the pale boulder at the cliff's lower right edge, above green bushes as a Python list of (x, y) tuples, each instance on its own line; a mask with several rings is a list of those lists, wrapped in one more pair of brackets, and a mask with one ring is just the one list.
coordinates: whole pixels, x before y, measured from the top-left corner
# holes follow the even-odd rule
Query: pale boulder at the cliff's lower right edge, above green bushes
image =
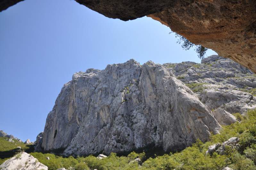
[(238, 122), (234, 115), (221, 108), (214, 110), (212, 114), (220, 125), (230, 125), (232, 123)]

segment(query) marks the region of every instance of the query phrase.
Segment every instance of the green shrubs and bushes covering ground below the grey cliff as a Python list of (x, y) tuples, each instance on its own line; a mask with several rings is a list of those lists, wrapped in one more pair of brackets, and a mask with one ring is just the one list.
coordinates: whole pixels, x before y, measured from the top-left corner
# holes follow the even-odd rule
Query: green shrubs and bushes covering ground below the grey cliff
[[(256, 170), (256, 110), (249, 110), (247, 116), (235, 114), (239, 123), (223, 126), (220, 134), (211, 135), (209, 142), (202, 143), (197, 140), (191, 147), (177, 153), (164, 155), (153, 155), (148, 157), (147, 153), (131, 152), (128, 156), (117, 156), (111, 153), (107, 158), (98, 159), (94, 156), (63, 158), (50, 153), (32, 152), (31, 145), (23, 143), (8, 142), (6, 138), (0, 138), (0, 164), (21, 150), (30, 153), (39, 162), (48, 166), (50, 170), (65, 167), (80, 169), (222, 169), (230, 167), (234, 170)], [(227, 141), (231, 137), (239, 137), (239, 149), (225, 148), (225, 154), (219, 155), (214, 152), (211, 156), (206, 154), (208, 147), (212, 144)], [(21, 146), (21, 149), (17, 149)], [(49, 157), (50, 160), (47, 160)], [(140, 158), (141, 162), (132, 162)]]

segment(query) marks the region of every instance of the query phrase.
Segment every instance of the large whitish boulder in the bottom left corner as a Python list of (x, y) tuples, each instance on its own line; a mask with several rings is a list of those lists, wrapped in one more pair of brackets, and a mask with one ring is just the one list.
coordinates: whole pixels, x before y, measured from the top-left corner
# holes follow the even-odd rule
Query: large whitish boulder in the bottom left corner
[(0, 165), (1, 170), (35, 170), (44, 169), (48, 170), (48, 167), (38, 162), (36, 158), (29, 155), (26, 152), (21, 152), (16, 156), (6, 160), (2, 165)]

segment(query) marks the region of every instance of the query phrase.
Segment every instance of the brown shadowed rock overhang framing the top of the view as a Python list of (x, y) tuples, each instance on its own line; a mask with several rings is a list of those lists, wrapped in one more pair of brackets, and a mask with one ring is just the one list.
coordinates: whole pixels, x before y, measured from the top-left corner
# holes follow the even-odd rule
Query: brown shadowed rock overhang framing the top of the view
[[(0, 11), (21, 0), (3, 0)], [(256, 73), (256, 3), (228, 0), (76, 0), (109, 18), (149, 16)]]

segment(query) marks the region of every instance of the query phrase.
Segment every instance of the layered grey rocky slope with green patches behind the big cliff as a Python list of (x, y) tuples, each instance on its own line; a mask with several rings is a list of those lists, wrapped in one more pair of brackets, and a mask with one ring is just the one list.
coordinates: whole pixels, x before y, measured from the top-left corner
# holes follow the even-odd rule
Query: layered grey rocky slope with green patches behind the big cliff
[(164, 67), (190, 87), (211, 110), (246, 113), (256, 108), (256, 75), (240, 64), (212, 55), (195, 62), (166, 63)]

